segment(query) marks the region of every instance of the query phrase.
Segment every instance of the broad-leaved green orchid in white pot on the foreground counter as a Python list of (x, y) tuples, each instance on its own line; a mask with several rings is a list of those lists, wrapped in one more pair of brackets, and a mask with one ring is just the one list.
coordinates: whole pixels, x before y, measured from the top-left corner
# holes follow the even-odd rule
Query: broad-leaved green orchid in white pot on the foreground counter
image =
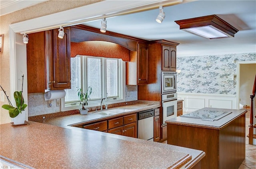
[(2, 90), (4, 91), (4, 93), (6, 95), (8, 103), (9, 103), (9, 104), (2, 105), (2, 108), (9, 111), (10, 117), (13, 118), (14, 125), (19, 125), (19, 124), (24, 124), (25, 123), (26, 110), (24, 110), (24, 109), (28, 105), (24, 104), (24, 98), (23, 98), (23, 95), (22, 95), (22, 92), (23, 92), (23, 78), (24, 78), (24, 75), (22, 75), (22, 89), (21, 89), (21, 91), (14, 91), (14, 99), (15, 99), (15, 102), (16, 102), (16, 107), (14, 107), (12, 105), (11, 101), (9, 100), (9, 97), (6, 95), (6, 91), (4, 91), (4, 89), (0, 85), (0, 87), (2, 88)]

